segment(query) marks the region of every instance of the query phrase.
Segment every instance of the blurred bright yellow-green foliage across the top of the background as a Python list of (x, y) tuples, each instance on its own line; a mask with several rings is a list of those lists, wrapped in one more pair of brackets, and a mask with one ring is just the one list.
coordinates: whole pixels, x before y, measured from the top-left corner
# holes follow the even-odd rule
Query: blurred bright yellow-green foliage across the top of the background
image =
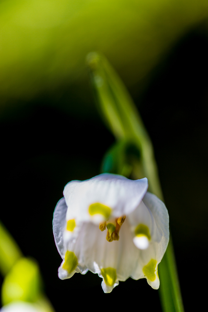
[(175, 41), (207, 17), (207, 7), (206, 0), (1, 1), (0, 112), (85, 85), (85, 56), (93, 50), (107, 56), (127, 87), (144, 83)]

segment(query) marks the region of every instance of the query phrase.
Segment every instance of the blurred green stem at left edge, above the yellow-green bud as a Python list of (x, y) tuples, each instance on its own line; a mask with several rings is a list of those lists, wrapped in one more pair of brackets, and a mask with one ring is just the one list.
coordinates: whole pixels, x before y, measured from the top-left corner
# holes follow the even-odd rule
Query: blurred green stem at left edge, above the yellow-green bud
[(14, 263), (22, 257), (16, 241), (0, 221), (0, 272), (5, 276)]

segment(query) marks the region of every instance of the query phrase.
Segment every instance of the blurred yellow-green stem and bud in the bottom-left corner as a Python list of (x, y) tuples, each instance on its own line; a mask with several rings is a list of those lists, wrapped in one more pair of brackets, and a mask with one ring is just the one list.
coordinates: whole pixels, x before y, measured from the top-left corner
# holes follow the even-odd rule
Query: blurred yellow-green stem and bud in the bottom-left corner
[(25, 258), (17, 243), (0, 222), (0, 270), (5, 276), (1, 289), (2, 305), (25, 301), (42, 312), (54, 312), (42, 290), (39, 267), (35, 260)]

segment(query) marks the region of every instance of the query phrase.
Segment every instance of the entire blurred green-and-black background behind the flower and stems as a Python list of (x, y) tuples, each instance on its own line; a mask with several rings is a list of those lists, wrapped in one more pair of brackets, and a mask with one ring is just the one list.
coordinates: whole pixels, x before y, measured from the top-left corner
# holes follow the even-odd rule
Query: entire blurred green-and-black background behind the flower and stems
[(114, 143), (89, 84), (91, 51), (117, 70), (152, 139), (185, 310), (199, 308), (207, 262), (208, 2), (7, 0), (0, 29), (0, 219), (38, 261), (56, 311), (74, 300), (81, 309), (114, 300), (116, 308), (136, 302), (160, 311), (146, 280), (104, 294), (90, 272), (57, 276), (56, 202), (70, 180), (100, 173)]

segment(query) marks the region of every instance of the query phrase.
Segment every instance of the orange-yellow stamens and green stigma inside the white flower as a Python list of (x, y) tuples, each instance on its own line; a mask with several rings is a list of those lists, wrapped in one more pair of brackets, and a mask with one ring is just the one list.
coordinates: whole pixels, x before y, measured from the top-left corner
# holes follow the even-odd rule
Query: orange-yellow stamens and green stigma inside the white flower
[(107, 241), (118, 241), (119, 240), (119, 231), (123, 222), (125, 221), (126, 216), (121, 216), (117, 219), (110, 219), (108, 221), (100, 222), (99, 229), (100, 231), (104, 231), (107, 227)]

